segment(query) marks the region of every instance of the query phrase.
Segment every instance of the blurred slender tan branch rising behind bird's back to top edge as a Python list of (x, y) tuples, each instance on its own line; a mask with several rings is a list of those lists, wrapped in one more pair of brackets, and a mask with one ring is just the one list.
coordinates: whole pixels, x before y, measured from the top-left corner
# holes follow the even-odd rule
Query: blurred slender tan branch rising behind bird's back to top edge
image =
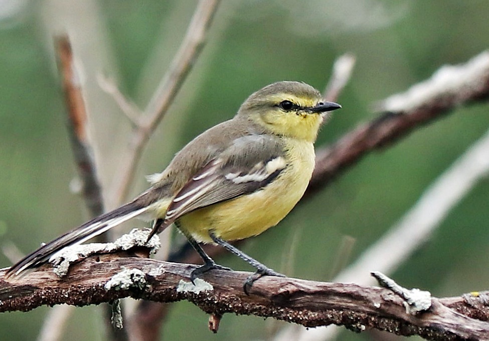
[(129, 149), (122, 156), (119, 171), (110, 190), (109, 207), (122, 202), (134, 177), (141, 152), (158, 123), (165, 116), (184, 80), (202, 51), (209, 26), (220, 0), (200, 0), (187, 34), (166, 75), (162, 78), (149, 103), (139, 118), (130, 137)]

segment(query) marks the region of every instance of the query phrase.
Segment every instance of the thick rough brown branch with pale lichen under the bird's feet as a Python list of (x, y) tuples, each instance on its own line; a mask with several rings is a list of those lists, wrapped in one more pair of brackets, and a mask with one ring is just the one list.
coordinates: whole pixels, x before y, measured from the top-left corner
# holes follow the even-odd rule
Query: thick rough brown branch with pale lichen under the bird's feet
[[(130, 270), (134, 279), (137, 275), (137, 285), (105, 289), (121, 269)], [(211, 271), (194, 286), (189, 279), (193, 269), (195, 266), (189, 264), (96, 255), (73, 266), (62, 279), (43, 267), (11, 282), (0, 280), (0, 311), (28, 311), (61, 303), (83, 306), (131, 296), (159, 302), (189, 300), (217, 316), (227, 312), (253, 314), (308, 327), (335, 323), (356, 331), (376, 328), (433, 340), (489, 339), (489, 323), (469, 317), (487, 320), (485, 293), (470, 299), (433, 298), (430, 311), (411, 315), (403, 300), (388, 289), (264, 277), (247, 296), (242, 286), (249, 273)]]

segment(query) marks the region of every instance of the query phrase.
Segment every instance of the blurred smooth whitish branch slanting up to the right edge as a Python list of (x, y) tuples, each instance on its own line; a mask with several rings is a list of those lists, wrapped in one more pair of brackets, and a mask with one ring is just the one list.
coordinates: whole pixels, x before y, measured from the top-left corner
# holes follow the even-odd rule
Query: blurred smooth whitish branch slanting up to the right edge
[(395, 270), (414, 250), (429, 240), (453, 206), (488, 174), (489, 131), (426, 189), (418, 202), (381, 240), (337, 279), (348, 281), (355, 278), (356, 283), (368, 284), (371, 278), (359, 278), (360, 269), (386, 273)]

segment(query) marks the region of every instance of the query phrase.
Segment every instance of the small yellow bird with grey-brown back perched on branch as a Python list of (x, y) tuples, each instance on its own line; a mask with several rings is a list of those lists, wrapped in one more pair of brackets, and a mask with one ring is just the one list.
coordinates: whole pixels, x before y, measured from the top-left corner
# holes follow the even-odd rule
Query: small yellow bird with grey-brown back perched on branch
[(6, 276), (37, 268), (67, 246), (143, 213), (154, 219), (149, 238), (175, 223), (202, 257), (204, 265), (192, 272), (192, 280), (211, 269), (228, 269), (199, 243), (221, 245), (255, 267), (245, 286), (262, 275), (282, 276), (228, 242), (261, 234), (295, 206), (314, 169), (313, 143), (325, 112), (338, 108), (305, 83), (265, 86), (232, 120), (196, 137), (162, 173), (149, 176), (152, 186), (144, 193), (43, 245)]

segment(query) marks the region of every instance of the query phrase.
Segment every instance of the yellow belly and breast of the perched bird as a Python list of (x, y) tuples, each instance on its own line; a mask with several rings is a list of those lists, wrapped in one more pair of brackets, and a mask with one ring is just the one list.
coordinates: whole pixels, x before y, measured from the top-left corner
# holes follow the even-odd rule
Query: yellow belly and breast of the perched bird
[(312, 143), (288, 144), (287, 159), (296, 160), (265, 188), (249, 195), (197, 209), (182, 216), (181, 228), (199, 242), (210, 243), (209, 231), (226, 241), (261, 234), (276, 225), (304, 194), (314, 169)]

